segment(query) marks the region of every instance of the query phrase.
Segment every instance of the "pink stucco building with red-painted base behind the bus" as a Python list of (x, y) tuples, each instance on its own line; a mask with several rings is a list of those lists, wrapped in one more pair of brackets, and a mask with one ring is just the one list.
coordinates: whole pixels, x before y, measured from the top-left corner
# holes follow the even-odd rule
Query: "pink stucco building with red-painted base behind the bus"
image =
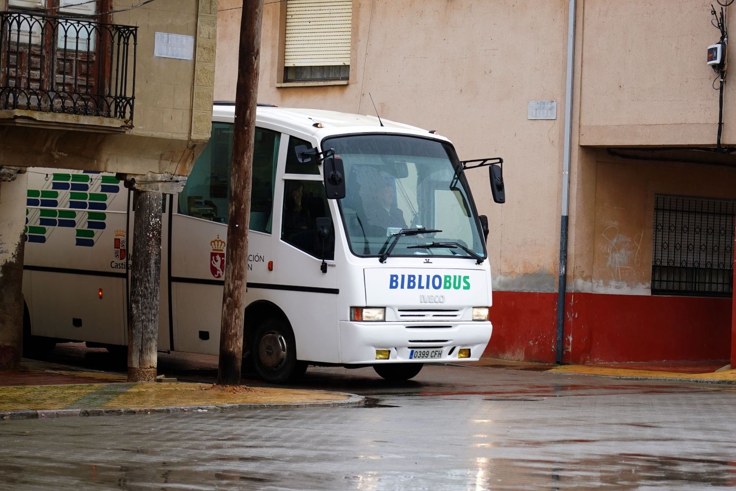
[[(726, 360), (736, 93), (718, 90), (707, 48), (723, 35), (711, 21), (727, 27), (736, 7), (720, 3), (267, 3), (258, 99), (378, 112), (447, 135), (461, 159), (503, 157), (506, 204), (468, 176), (491, 225), (486, 356)], [(216, 99), (235, 96), (240, 7), (219, 3)]]

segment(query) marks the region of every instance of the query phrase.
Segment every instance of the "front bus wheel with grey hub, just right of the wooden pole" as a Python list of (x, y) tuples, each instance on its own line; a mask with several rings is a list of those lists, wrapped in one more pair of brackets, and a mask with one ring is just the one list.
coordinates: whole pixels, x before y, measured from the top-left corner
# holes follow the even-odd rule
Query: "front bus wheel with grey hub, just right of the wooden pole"
[(297, 380), (307, 370), (307, 364), (297, 360), (294, 333), (280, 319), (266, 319), (258, 326), (250, 353), (255, 371), (272, 384)]

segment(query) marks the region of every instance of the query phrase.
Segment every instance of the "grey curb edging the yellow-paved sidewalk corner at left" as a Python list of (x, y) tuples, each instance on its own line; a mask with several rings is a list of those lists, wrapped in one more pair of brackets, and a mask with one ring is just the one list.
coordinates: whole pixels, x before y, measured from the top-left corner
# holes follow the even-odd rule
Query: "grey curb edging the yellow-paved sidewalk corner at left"
[[(326, 392), (326, 391), (315, 391)], [(213, 406), (158, 406), (153, 408), (113, 408), (113, 409), (18, 409), (0, 411), (0, 420), (40, 420), (46, 418), (69, 416), (123, 416), (129, 414), (174, 414), (174, 413), (205, 413), (230, 412), (243, 409), (266, 408), (303, 408), (303, 407), (336, 407), (336, 406), (363, 406), (366, 398), (362, 395), (348, 394), (347, 392), (331, 392), (338, 395), (347, 395), (343, 400), (322, 400), (314, 403), (243, 403), (221, 404)]]

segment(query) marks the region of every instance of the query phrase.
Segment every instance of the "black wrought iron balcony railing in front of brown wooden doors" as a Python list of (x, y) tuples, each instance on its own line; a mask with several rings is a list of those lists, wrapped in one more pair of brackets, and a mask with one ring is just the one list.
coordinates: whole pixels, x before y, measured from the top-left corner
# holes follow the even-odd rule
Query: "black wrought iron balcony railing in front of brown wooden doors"
[(132, 120), (138, 28), (0, 12), (0, 109)]

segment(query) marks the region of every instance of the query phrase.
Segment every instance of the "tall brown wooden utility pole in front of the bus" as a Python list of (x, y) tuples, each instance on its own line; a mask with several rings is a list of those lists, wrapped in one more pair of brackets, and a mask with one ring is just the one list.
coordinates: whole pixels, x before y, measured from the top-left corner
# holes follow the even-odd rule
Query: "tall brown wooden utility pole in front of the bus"
[(250, 188), (262, 18), (263, 0), (243, 0), (235, 96), (233, 166), (230, 169), (230, 208), (227, 213), (225, 286), (222, 294), (222, 327), (217, 372), (217, 383), (230, 386), (240, 384), (243, 356)]

